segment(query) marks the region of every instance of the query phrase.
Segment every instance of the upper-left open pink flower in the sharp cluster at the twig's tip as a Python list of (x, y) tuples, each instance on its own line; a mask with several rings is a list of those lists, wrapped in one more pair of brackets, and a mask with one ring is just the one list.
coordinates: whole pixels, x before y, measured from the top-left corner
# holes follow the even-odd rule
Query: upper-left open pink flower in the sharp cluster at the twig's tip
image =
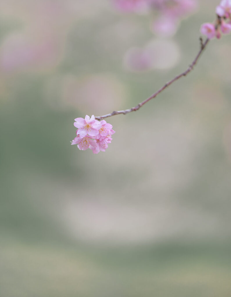
[(75, 119), (74, 126), (78, 128), (76, 134), (79, 134), (82, 138), (87, 134), (90, 136), (99, 134), (99, 129), (101, 128), (102, 124), (99, 121), (95, 120), (94, 116), (91, 116), (90, 118), (88, 115), (86, 115), (85, 119)]

